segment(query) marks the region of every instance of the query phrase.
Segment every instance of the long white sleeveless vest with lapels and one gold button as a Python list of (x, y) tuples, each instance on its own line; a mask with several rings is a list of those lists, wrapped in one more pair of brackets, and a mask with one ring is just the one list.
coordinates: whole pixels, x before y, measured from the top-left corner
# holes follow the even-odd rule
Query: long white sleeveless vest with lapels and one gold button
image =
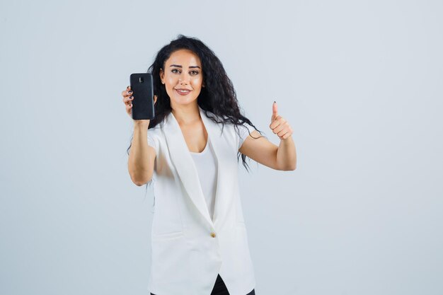
[(148, 289), (156, 295), (210, 295), (220, 274), (230, 295), (246, 295), (255, 277), (238, 190), (239, 139), (234, 125), (225, 123), (222, 133), (222, 124), (199, 110), (218, 166), (214, 221), (171, 112), (148, 130), (156, 139)]

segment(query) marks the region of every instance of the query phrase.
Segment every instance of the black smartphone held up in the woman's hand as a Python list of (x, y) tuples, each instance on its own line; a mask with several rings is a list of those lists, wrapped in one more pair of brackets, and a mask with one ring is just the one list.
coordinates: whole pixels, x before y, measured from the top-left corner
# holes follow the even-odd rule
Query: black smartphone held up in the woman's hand
[(132, 119), (154, 119), (154, 82), (152, 74), (135, 73), (130, 76), (132, 90)]

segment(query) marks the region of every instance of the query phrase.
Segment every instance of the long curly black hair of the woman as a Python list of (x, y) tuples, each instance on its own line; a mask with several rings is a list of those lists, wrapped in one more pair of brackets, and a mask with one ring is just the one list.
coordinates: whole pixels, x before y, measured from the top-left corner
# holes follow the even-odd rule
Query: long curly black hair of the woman
[[(197, 98), (197, 104), (205, 112), (207, 117), (216, 123), (231, 123), (238, 131), (238, 125), (243, 125), (245, 122), (258, 130), (255, 125), (245, 116), (241, 114), (240, 107), (234, 85), (229, 79), (224, 70), (222, 62), (214, 54), (214, 52), (196, 37), (187, 37), (185, 35), (178, 35), (176, 40), (172, 40), (168, 45), (163, 46), (157, 53), (154, 63), (149, 66), (148, 73), (151, 73), (154, 80), (154, 94), (157, 96), (154, 105), (155, 117), (149, 122), (149, 129), (155, 127), (162, 122), (167, 115), (172, 111), (171, 100), (166, 93), (166, 87), (161, 83), (160, 69), (164, 68), (166, 60), (176, 50), (191, 50), (198, 57), (202, 63), (203, 85), (200, 94)], [(212, 112), (217, 117), (208, 114)], [(251, 135), (251, 132), (249, 132)], [(260, 132), (262, 134), (262, 132)], [(263, 137), (263, 135), (261, 136)], [(255, 137), (253, 137), (255, 138)], [(257, 137), (260, 138), (260, 137)], [(132, 141), (132, 139), (131, 139)], [(129, 154), (131, 145), (127, 149)], [(238, 151), (237, 161), (242, 158), (243, 166), (248, 170), (248, 163), (246, 163), (246, 156)]]

